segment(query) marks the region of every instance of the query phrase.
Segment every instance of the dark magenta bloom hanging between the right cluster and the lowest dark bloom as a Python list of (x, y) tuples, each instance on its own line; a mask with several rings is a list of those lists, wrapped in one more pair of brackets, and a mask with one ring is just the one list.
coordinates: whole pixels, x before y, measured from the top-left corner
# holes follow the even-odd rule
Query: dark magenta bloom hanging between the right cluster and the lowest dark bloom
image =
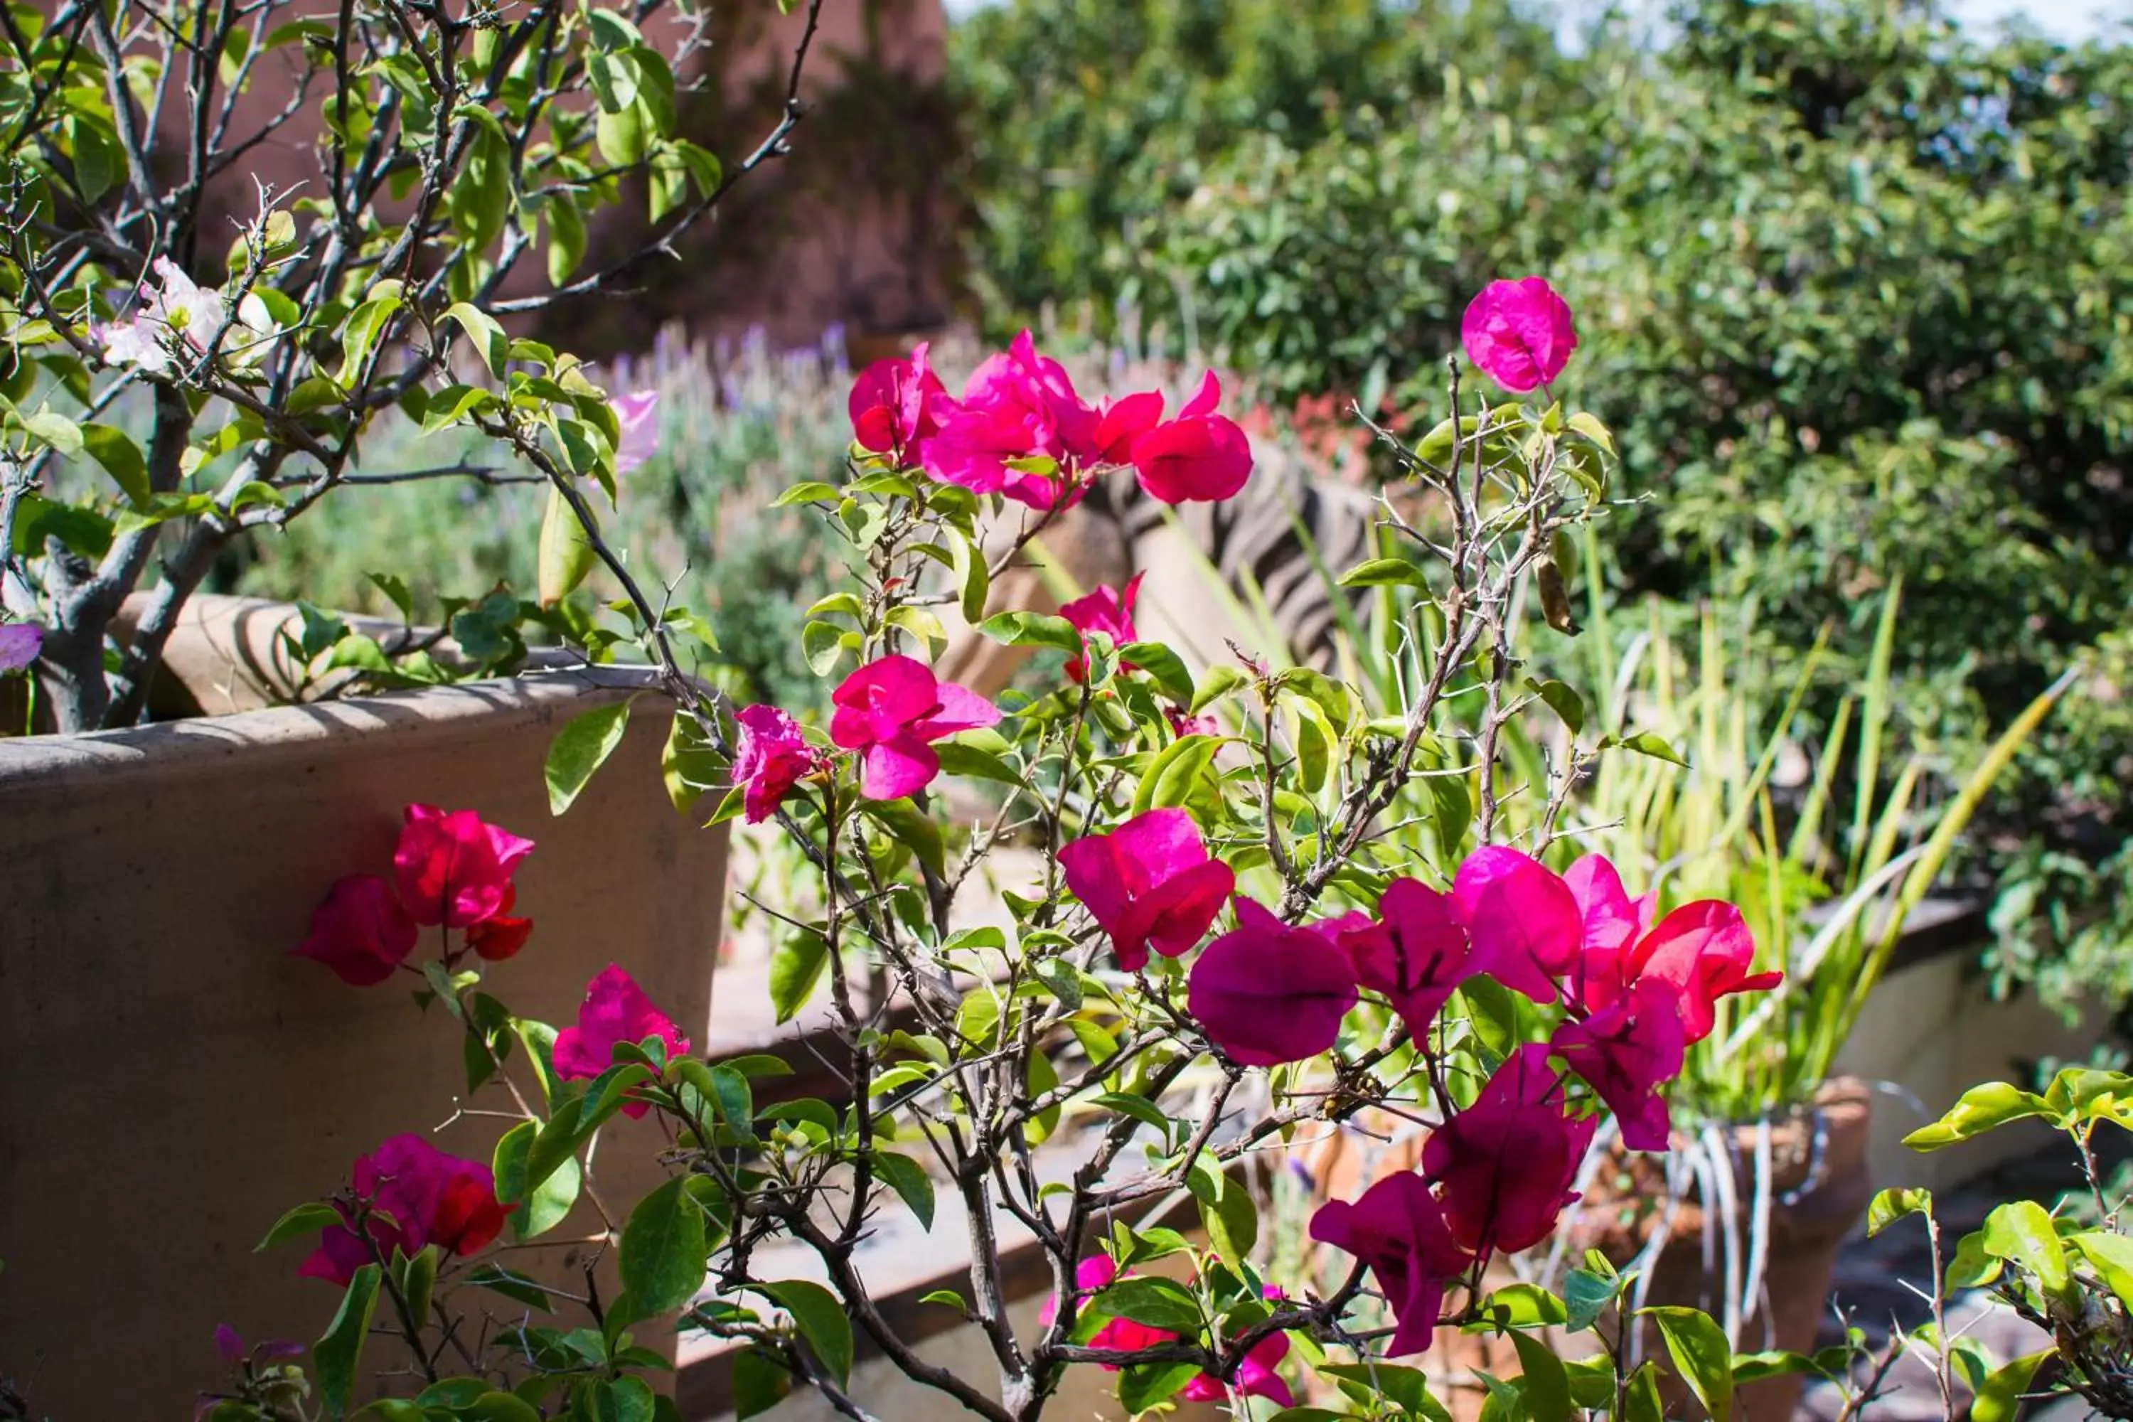
[(1546, 1043), (1510, 1053), (1474, 1104), (1423, 1145), (1423, 1179), (1440, 1192), (1459, 1247), (1514, 1254), (1546, 1239), (1578, 1198), (1570, 1185), (1598, 1126), (1566, 1113)]

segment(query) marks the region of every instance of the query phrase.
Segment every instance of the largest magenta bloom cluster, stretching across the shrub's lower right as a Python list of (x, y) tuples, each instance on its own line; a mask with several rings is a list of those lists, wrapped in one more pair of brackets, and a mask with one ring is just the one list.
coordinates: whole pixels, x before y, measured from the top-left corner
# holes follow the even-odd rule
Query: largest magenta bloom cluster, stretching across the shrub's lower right
[[(1235, 889), (1184, 810), (1150, 810), (1075, 840), (1060, 866), (1128, 970), (1143, 968), (1150, 949), (1188, 953)], [(1448, 1281), (1495, 1251), (1534, 1247), (1576, 1198), (1598, 1117), (1570, 1096), (1572, 1072), (1617, 1115), (1623, 1145), (1666, 1149), (1659, 1087), (1681, 1072), (1685, 1047), (1711, 1034), (1713, 1002), (1781, 979), (1751, 972), (1755, 942), (1738, 908), (1702, 900), (1655, 923), (1653, 898), (1632, 900), (1600, 855), (1555, 874), (1514, 849), (1480, 849), (1448, 893), (1399, 878), (1376, 917), (1295, 925), (1250, 898), (1233, 904), (1237, 927), (1194, 959), (1186, 1004), (1244, 1066), (1331, 1049), (1365, 991), (1399, 1013), (1416, 1043), (1476, 974), (1563, 1008), (1546, 1043), (1519, 1047), (1429, 1136), (1418, 1173), (1312, 1219), (1314, 1239), (1376, 1273), (1399, 1320), (1395, 1356), (1427, 1347)]]

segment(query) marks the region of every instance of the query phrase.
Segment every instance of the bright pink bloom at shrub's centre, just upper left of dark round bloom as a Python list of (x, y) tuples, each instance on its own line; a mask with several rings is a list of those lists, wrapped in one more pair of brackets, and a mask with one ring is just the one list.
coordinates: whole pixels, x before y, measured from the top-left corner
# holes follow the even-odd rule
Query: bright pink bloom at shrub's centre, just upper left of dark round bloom
[(1126, 972), (1148, 966), (1150, 947), (1177, 957), (1197, 944), (1237, 889), (1231, 868), (1207, 857), (1192, 817), (1175, 808), (1066, 844), (1060, 870)]

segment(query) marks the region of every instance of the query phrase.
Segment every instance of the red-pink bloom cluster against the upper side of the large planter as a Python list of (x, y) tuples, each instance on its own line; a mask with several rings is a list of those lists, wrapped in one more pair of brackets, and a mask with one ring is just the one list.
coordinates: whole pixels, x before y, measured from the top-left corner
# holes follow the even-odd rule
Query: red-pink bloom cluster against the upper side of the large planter
[(533, 840), (474, 810), (412, 804), (392, 851), (392, 878), (335, 880), (294, 953), (333, 968), (343, 983), (373, 987), (407, 962), (422, 925), (442, 925), (461, 930), (478, 957), (503, 962), (533, 932), (533, 919), (512, 915), (512, 878), (531, 853)]

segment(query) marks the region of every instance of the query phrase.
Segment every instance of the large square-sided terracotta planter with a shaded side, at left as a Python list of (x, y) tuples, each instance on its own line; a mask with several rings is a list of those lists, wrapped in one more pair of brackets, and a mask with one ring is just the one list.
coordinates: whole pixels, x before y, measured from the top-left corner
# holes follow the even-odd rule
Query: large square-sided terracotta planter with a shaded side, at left
[[(552, 819), (557, 727), (625, 695), (629, 733)], [(644, 674), (557, 672), (0, 740), (0, 1373), (38, 1416), (186, 1416), (222, 1381), (215, 1324), (307, 1341), (339, 1300), (294, 1277), (301, 1245), (252, 1251), (288, 1207), (397, 1132), (450, 1121), (444, 1149), (491, 1156), (508, 1121), (452, 1119), (465, 1070), (442, 1013), (288, 955), (337, 876), (390, 863), (407, 802), (538, 840), (518, 874), (533, 940), (491, 970), (514, 1011), (572, 1021), (621, 959), (704, 1040), (725, 834), (668, 804), (668, 723)], [(646, 1124), (608, 1130), (610, 1200), (661, 1175), (657, 1145)], [(582, 1286), (572, 1247), (512, 1262)]]

